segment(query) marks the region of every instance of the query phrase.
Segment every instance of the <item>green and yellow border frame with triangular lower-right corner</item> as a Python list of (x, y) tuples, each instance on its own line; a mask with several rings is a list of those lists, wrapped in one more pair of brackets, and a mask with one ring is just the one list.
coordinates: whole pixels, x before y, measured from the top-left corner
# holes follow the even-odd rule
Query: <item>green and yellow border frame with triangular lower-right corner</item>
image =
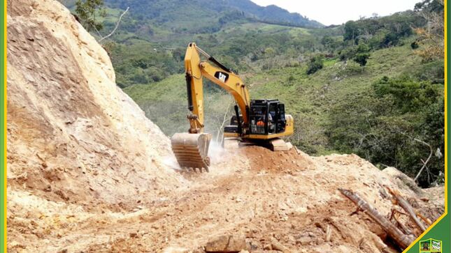
[[(435, 240), (441, 240), (443, 242), (442, 251), (451, 253), (451, 219), (448, 215), (448, 206), (450, 205), (450, 199), (448, 199), (448, 191), (450, 185), (450, 173), (448, 173), (448, 144), (450, 143), (450, 135), (448, 125), (450, 125), (450, 117), (448, 115), (448, 108), (450, 108), (450, 71), (448, 70), (448, 62), (450, 61), (450, 41), (448, 40), (448, 34), (450, 34), (450, 6), (448, 0), (445, 0), (445, 213), (432, 224), (427, 231), (424, 231), (422, 236), (417, 238), (415, 242), (410, 245), (404, 252), (417, 253), (420, 252), (420, 240), (424, 238), (434, 238)], [(0, 88), (0, 252), (6, 252), (6, 1), (2, 0), (0, 6), (1, 15), (1, 49), (0, 58), (1, 70), (1, 88)]]

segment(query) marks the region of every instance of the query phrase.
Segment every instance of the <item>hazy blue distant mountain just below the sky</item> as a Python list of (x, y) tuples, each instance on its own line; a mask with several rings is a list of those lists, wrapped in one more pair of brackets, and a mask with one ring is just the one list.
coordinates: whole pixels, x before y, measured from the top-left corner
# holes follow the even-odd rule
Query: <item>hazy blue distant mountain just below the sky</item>
[[(323, 25), (278, 6), (259, 6), (250, 0), (106, 0), (107, 6), (131, 9), (138, 20), (180, 31), (208, 31), (225, 22), (250, 20), (271, 24), (318, 28)], [(200, 30), (199, 30), (200, 29)]]

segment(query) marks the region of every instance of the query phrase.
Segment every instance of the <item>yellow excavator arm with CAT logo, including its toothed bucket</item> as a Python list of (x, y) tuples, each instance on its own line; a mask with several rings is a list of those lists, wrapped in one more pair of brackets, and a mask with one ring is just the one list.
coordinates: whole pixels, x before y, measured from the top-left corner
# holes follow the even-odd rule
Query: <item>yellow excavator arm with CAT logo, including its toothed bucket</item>
[[(201, 56), (214, 63), (201, 61)], [(185, 79), (187, 85), (189, 130), (187, 133), (176, 133), (171, 137), (173, 153), (182, 168), (207, 169), (210, 166), (208, 147), (211, 135), (203, 133), (203, 77), (221, 86), (234, 96), (236, 101), (235, 111), (238, 118), (238, 128), (242, 131), (242, 125), (248, 124), (248, 112), (250, 105), (249, 92), (243, 81), (232, 70), (216, 61), (212, 56), (196, 47), (195, 43), (189, 43), (185, 54)], [(238, 107), (243, 115), (243, 123), (239, 122)], [(242, 133), (242, 132), (241, 132)]]

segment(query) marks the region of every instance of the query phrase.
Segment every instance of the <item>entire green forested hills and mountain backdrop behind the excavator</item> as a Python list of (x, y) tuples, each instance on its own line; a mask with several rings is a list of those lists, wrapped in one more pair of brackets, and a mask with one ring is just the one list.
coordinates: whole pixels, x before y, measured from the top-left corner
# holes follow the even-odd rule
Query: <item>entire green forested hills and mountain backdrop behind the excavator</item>
[[(96, 38), (115, 31), (101, 43), (117, 85), (167, 135), (187, 129), (182, 61), (196, 42), (238, 70), (252, 98), (285, 102), (288, 140), (306, 153), (356, 153), (424, 187), (443, 183), (443, 0), (327, 27), (251, 1), (87, 2), (66, 6)], [(220, 141), (233, 101), (209, 82), (205, 100)]]

